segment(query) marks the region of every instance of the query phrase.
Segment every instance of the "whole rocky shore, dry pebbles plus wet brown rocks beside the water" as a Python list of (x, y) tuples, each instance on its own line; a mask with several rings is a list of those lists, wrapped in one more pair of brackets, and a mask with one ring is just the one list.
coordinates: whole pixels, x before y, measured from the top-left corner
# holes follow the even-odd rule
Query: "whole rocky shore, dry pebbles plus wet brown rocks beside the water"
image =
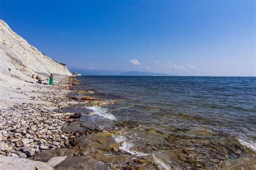
[[(78, 101), (63, 93), (62, 90), (68, 89), (68, 79), (62, 79), (58, 85), (47, 87), (51, 91), (35, 90), (38, 96), (30, 100), (41, 101), (42, 105), (21, 103), (0, 109), (0, 155), (8, 157), (1, 157), (1, 169), (24, 166), (28, 169), (145, 169), (146, 165), (156, 166), (119, 149), (123, 142), (118, 143), (113, 136), (123, 125), (100, 118), (92, 121), (86, 114), (80, 120), (80, 113), (64, 111), (75, 104), (111, 102), (93, 100), (90, 91), (82, 92), (89, 99)], [(44, 102), (55, 107), (46, 107)], [(109, 126), (102, 129), (106, 124)]]

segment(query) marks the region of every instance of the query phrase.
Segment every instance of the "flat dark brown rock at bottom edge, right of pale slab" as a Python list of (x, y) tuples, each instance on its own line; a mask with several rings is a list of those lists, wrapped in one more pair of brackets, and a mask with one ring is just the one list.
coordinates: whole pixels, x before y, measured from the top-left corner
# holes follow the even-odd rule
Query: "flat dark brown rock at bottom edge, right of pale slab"
[(79, 157), (68, 157), (56, 165), (55, 169), (107, 169), (109, 166), (109, 164), (104, 164), (88, 155), (83, 155)]

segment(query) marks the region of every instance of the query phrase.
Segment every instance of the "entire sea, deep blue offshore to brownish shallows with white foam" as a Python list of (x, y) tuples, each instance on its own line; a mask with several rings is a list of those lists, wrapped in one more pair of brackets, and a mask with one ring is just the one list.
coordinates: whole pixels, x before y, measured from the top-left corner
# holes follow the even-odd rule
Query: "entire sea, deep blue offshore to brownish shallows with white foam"
[[(193, 154), (206, 167), (255, 156), (256, 77), (78, 76), (77, 79), (83, 82), (79, 90), (111, 101), (86, 107), (92, 115), (127, 124), (114, 136), (117, 142), (124, 141), (123, 150), (152, 157), (162, 169), (178, 166), (174, 154), (183, 147), (192, 147)], [(190, 160), (184, 166), (186, 162)]]

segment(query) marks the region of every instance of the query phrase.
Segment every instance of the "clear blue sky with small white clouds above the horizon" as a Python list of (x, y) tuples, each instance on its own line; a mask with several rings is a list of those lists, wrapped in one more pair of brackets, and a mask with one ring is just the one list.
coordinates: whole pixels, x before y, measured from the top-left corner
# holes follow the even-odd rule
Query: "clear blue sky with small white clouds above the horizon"
[(69, 68), (256, 76), (255, 1), (12, 1), (0, 19)]

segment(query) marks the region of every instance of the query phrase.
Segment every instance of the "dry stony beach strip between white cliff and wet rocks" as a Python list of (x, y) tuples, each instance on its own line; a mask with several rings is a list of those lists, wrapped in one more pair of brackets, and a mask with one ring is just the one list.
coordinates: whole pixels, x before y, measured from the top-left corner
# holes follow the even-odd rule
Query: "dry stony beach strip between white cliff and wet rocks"
[[(61, 80), (57, 80), (53, 86), (32, 84), (28, 89), (13, 84), (20, 85), (16, 88), (17, 93), (25, 94), (28, 98), (16, 99), (18, 104), (9, 107), (1, 106), (0, 155), (31, 158), (39, 151), (65, 147), (69, 134), (63, 133), (61, 129), (66, 123), (65, 116), (72, 114), (64, 115), (54, 110), (72, 100), (69, 97), (68, 76), (58, 75), (57, 79)], [(28, 93), (35, 94), (29, 96)], [(8, 98), (5, 100), (8, 101)]]

